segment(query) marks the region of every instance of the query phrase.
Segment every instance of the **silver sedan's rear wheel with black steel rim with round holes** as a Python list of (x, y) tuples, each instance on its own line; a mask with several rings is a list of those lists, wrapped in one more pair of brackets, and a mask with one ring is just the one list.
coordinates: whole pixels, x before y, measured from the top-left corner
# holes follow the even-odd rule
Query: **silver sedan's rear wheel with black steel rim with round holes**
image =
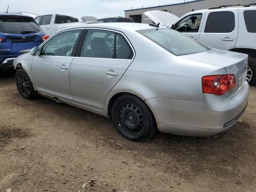
[(133, 95), (122, 95), (117, 98), (111, 108), (111, 116), (118, 132), (128, 140), (146, 140), (157, 130), (150, 108)]

